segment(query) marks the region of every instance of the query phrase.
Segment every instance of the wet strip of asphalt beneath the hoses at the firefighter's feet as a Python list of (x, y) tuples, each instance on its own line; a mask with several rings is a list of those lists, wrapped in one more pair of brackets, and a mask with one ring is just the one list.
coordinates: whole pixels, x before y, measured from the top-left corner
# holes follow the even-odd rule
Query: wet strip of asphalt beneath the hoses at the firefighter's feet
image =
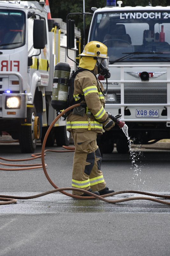
[[(6, 192), (7, 193), (7, 192)], [(35, 193), (7, 193), (5, 195), (11, 196), (33, 196), (40, 194)], [(170, 195), (170, 192), (151, 192), (160, 195)], [(2, 193), (0, 192), (2, 195)], [(107, 199), (115, 200), (122, 198), (129, 198), (134, 196), (144, 196), (139, 194), (120, 194), (116, 196), (107, 197)], [(170, 199), (163, 199), (159, 197), (147, 196), (148, 198), (157, 198), (163, 201), (170, 202)], [(170, 213), (170, 205), (159, 204), (157, 202), (147, 200), (132, 200), (121, 202), (117, 204), (111, 204), (103, 202), (102, 200), (76, 200), (62, 195), (61, 193), (53, 193), (46, 196), (38, 197), (35, 199), (18, 199), (17, 204), (4, 205), (0, 208), (0, 214), (42, 214), (42, 213)]]

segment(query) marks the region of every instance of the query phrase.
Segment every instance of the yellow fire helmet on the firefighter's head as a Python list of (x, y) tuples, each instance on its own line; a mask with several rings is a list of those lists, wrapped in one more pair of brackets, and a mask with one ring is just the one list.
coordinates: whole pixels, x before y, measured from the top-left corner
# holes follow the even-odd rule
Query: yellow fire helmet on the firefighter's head
[(79, 56), (100, 57), (109, 59), (107, 56), (107, 46), (101, 42), (91, 41), (85, 45), (84, 50)]

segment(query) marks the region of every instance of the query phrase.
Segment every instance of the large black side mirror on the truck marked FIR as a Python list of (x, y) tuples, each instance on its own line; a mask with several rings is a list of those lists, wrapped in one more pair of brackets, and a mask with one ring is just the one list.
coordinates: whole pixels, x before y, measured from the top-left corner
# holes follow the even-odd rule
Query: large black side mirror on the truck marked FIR
[(33, 45), (35, 49), (44, 49), (46, 44), (46, 23), (45, 20), (34, 20)]

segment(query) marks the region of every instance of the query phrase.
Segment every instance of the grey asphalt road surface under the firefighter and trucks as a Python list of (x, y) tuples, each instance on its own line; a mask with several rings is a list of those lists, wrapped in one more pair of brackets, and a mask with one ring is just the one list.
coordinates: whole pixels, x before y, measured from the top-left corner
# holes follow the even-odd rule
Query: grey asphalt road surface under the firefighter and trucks
[[(10, 159), (31, 157), (21, 154), (17, 143), (0, 144), (0, 152), (1, 157)], [(37, 152), (41, 152), (40, 145)], [(73, 155), (46, 152), (47, 172), (58, 187), (71, 186)], [(41, 160), (22, 163), (30, 162)], [(103, 154), (102, 160), (106, 184), (115, 191), (170, 195), (169, 166), (168, 150), (133, 148), (128, 154), (114, 150)], [(0, 171), (1, 195), (32, 196), (52, 189), (42, 168)], [(140, 195), (120, 194), (108, 199), (133, 196)], [(60, 192), (18, 200), (17, 204), (0, 205), (0, 256), (169, 256), (169, 213), (169, 205), (152, 201), (109, 204), (97, 199), (75, 200)]]

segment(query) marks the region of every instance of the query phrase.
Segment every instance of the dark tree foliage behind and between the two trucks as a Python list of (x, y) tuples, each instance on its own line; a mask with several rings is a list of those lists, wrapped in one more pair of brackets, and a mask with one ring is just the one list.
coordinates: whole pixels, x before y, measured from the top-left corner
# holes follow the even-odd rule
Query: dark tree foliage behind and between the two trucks
[[(152, 6), (156, 5), (162, 5), (162, 6), (167, 6), (170, 5), (170, 0), (122, 0), (123, 4), (122, 6), (146, 6), (149, 4), (149, 2), (152, 2)], [(116, 0), (117, 2), (117, 0)], [(58, 17), (62, 18), (64, 22), (66, 22), (66, 17), (68, 13), (71, 12), (83, 12), (83, 0), (65, 0), (65, 1), (60, 1), (60, 0), (49, 0), (50, 4), (50, 11), (51, 11), (51, 16), (53, 17)], [(91, 7), (97, 7), (97, 8), (102, 8), (106, 6), (106, 0), (85, 0), (85, 12), (91, 12)], [(83, 48), (83, 41), (84, 41), (84, 33), (83, 33), (83, 15), (74, 15), (70, 16), (69, 18), (75, 20), (75, 25), (77, 28), (80, 28), (81, 30), (81, 48)], [(88, 39), (88, 34), (89, 34), (89, 27), (90, 27), (90, 22), (92, 19), (92, 15), (86, 15), (85, 17), (85, 25), (86, 25), (86, 30), (85, 30), (85, 44), (87, 43)]]

